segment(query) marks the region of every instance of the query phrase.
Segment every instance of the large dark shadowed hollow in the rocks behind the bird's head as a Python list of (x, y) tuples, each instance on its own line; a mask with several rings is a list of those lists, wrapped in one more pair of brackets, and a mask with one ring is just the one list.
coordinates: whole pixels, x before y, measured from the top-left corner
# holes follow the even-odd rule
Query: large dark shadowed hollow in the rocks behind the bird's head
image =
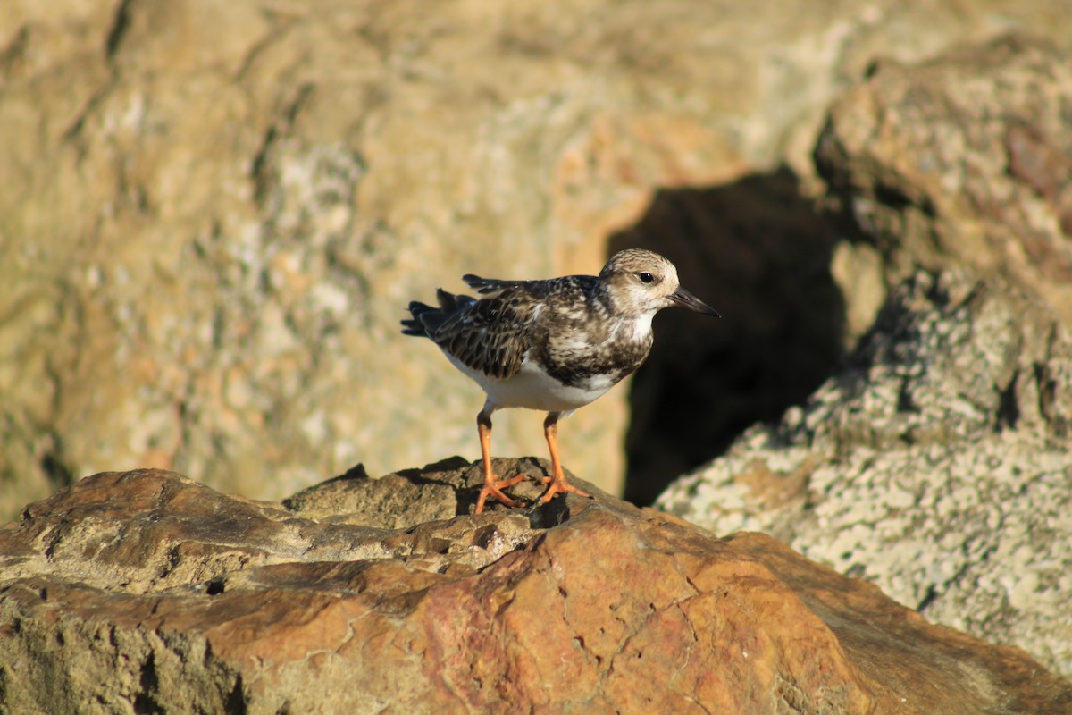
[(650, 504), (830, 374), (845, 322), (833, 247), (831, 225), (788, 168), (661, 190), (635, 226), (611, 238), (608, 253), (644, 248), (669, 257), (682, 285), (724, 316), (656, 317), (655, 345), (629, 396), (627, 500)]

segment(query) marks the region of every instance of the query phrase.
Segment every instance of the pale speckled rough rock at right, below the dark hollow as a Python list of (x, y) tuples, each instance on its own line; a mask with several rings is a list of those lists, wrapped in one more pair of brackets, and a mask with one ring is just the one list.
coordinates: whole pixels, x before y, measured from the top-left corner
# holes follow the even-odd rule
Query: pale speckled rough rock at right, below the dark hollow
[(917, 274), (803, 408), (658, 505), (1072, 674), (1072, 338), (1003, 279)]

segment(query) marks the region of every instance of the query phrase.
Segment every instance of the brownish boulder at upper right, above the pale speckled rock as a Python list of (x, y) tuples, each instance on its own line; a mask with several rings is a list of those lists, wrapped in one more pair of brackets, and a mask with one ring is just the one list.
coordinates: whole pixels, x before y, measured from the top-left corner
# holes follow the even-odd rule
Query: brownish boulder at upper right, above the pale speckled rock
[(1072, 54), (1044, 40), (878, 62), (834, 104), (816, 160), (889, 284), (919, 266), (999, 272), (1072, 327), (1070, 106)]

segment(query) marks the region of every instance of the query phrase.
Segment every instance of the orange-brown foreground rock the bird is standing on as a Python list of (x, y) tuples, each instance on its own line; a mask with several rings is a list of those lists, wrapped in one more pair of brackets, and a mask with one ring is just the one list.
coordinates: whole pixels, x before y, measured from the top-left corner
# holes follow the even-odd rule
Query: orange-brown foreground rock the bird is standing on
[(460, 460), (355, 472), (287, 509), (147, 470), (31, 504), (0, 530), (4, 712), (1072, 707), (1022, 651), (771, 537), (716, 539), (605, 494), (458, 516), (478, 478)]

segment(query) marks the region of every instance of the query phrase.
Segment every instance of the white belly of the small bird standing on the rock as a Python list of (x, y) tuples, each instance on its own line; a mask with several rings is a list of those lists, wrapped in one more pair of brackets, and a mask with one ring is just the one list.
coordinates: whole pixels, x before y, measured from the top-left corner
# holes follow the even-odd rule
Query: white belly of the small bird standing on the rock
[(506, 379), (489, 377), (462, 364), (444, 352), (456, 368), (468, 375), (488, 394), (487, 407), (527, 407), (545, 412), (566, 412), (583, 407), (614, 386), (608, 379), (592, 379), (585, 387), (567, 387), (536, 368), (531, 361), (521, 363), (518, 374)]

